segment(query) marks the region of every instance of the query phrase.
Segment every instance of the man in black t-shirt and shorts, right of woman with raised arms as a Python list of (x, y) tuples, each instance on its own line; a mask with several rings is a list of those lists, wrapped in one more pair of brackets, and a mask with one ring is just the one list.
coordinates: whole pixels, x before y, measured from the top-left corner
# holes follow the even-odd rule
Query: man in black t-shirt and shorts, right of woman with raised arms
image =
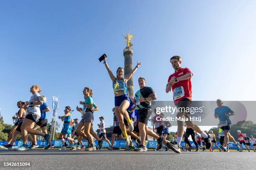
[(139, 148), (135, 148), (134, 151), (147, 151), (144, 145), (146, 135), (150, 135), (157, 139), (158, 147), (162, 148), (164, 138), (156, 135), (152, 130), (148, 129), (148, 119), (151, 116), (151, 101), (156, 100), (156, 93), (151, 87), (146, 87), (146, 80), (143, 77), (139, 77), (138, 83), (140, 90), (135, 94), (133, 103), (136, 104), (136, 110), (138, 110), (139, 115), (139, 131), (141, 136), (141, 143)]

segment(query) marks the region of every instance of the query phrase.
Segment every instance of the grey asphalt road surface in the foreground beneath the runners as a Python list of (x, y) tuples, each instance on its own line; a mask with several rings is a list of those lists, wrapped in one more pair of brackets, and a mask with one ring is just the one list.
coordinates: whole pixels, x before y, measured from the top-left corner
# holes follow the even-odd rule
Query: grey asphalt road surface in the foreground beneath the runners
[(31, 162), (30, 168), (19, 169), (91, 169), (91, 170), (248, 170), (256, 168), (256, 153), (251, 152), (135, 152), (124, 150), (0, 150), (3, 162)]

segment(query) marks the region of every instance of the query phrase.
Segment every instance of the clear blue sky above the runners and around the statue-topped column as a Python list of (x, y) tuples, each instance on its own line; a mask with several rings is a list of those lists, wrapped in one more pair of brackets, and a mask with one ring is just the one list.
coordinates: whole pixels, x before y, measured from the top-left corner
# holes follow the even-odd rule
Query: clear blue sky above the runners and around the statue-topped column
[[(113, 72), (124, 65), (125, 40), (131, 30), (133, 79), (146, 78), (158, 100), (174, 72), (169, 58), (182, 57), (189, 67), (193, 100), (255, 100), (256, 1), (92, 0), (3, 1), (0, 5), (0, 107), (6, 123), (16, 102), (30, 98), (33, 84), (42, 87), (51, 106), (59, 96), (58, 115), (83, 100), (91, 87), (95, 125), (103, 115), (112, 124), (112, 82), (98, 57), (108, 55)], [(51, 108), (51, 107), (50, 107)], [(51, 113), (47, 113), (51, 117)], [(79, 118), (73, 112), (73, 118)], [(94, 126), (96, 129), (97, 127)], [(174, 129), (175, 130), (175, 129)]]

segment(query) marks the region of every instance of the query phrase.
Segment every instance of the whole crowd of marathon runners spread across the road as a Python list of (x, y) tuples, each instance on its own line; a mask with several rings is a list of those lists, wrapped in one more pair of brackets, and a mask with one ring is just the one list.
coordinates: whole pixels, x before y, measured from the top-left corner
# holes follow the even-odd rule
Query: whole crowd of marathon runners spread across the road
[[(113, 150), (115, 137), (118, 135), (120, 140), (125, 141), (127, 148), (125, 150), (134, 151), (147, 151), (146, 145), (148, 143), (147, 135), (157, 140), (156, 151), (162, 150), (165, 145), (165, 150), (173, 150), (176, 153), (181, 153), (181, 150), (192, 150), (192, 145), (189, 139), (192, 138), (195, 144), (197, 152), (210, 150), (213, 151), (213, 146), (218, 148), (219, 151), (229, 151), (229, 141), (233, 142), (237, 150), (243, 152), (243, 145), (250, 150), (255, 152), (256, 139), (251, 135), (248, 137), (246, 134), (241, 133), (238, 130), (238, 141), (230, 135), (230, 116), (235, 113), (227, 106), (223, 105), (223, 102), (218, 99), (218, 107), (215, 109), (214, 117), (219, 119), (218, 125), (218, 137), (220, 138), (220, 146), (217, 145), (215, 134), (210, 131), (203, 131), (198, 125), (190, 121), (178, 120), (177, 121), (177, 133), (173, 140), (167, 140), (169, 135), (169, 128), (172, 126), (169, 121), (162, 121), (159, 117), (164, 117), (164, 114), (156, 114), (154, 110), (154, 116), (152, 116), (152, 122), (154, 123), (155, 130), (148, 128), (148, 121), (153, 111), (151, 111), (151, 101), (156, 100), (156, 93), (152, 87), (146, 86), (146, 79), (143, 77), (138, 78), (138, 85), (140, 89), (135, 93), (135, 96), (130, 96), (127, 88), (127, 81), (133, 76), (138, 67), (141, 65), (137, 63), (136, 67), (132, 72), (125, 77), (124, 69), (118, 67), (116, 76), (110, 70), (106, 58), (103, 60), (106, 70), (113, 83), (113, 90), (115, 95), (115, 107), (113, 108), (113, 124), (114, 130), (112, 140), (108, 140), (105, 130), (104, 117), (99, 117), (100, 123), (97, 124), (100, 128), (100, 135), (93, 130), (94, 123), (94, 112), (98, 110), (92, 95), (93, 91), (90, 87), (84, 87), (82, 93), (84, 100), (79, 101), (79, 106), (76, 107), (78, 112), (81, 112), (81, 120), (76, 118), (72, 120), (72, 112), (74, 110), (71, 107), (66, 106), (64, 115), (59, 116), (59, 119), (63, 122), (63, 128), (59, 135), (61, 139), (60, 150), (67, 149), (68, 140), (71, 145), (71, 150), (97, 150), (102, 148), (103, 140), (105, 140), (109, 147), (108, 150)], [(193, 76), (192, 71), (189, 68), (181, 67), (181, 57), (173, 56), (170, 59), (174, 73), (169, 76), (166, 93), (172, 91), (174, 104), (179, 107), (187, 108), (192, 102), (192, 83), (191, 77)], [(12, 130), (10, 131), (8, 143), (0, 146), (0, 148), (13, 148), (13, 143), (17, 139), (17, 135), (20, 133), (23, 145), (15, 150), (28, 150), (30, 148), (38, 148), (37, 135), (42, 136), (47, 143), (45, 149), (51, 149), (54, 145), (51, 143), (49, 133), (47, 132), (47, 117), (46, 112), (50, 109), (46, 104), (46, 97), (41, 96), (41, 87), (33, 85), (30, 88), (32, 96), (29, 101), (22, 102), (18, 101), (17, 106), (19, 108), (17, 117), (18, 120), (15, 122)], [(189, 112), (178, 111), (177, 117), (189, 117)], [(112, 116), (111, 116), (112, 117)], [(41, 131), (38, 130), (41, 128)], [(185, 129), (186, 128), (186, 129)], [(31, 134), (31, 135), (29, 135)], [(181, 146), (182, 138), (184, 138), (185, 147)], [(29, 146), (27, 142), (31, 141), (32, 144)], [(82, 140), (87, 140), (87, 146), (83, 145)], [(97, 140), (97, 145), (95, 145)], [(133, 142), (136, 144), (133, 145)]]

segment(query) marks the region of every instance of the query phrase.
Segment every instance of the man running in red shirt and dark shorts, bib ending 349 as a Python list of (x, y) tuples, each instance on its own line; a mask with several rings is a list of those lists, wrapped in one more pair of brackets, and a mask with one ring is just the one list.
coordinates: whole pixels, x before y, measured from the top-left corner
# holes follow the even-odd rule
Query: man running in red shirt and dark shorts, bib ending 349
[[(166, 85), (166, 93), (170, 92), (172, 90), (173, 92), (173, 100), (174, 104), (179, 107), (187, 108), (191, 104), (192, 101), (192, 85), (191, 85), (191, 77), (193, 76), (193, 73), (189, 68), (182, 68), (181, 65), (181, 57), (180, 56), (173, 56), (170, 59), (170, 62), (172, 63), (172, 67), (174, 68), (175, 72), (169, 76), (168, 83)], [(179, 110), (179, 109), (178, 109)], [(177, 113), (176, 117), (188, 117), (189, 112), (182, 112), (181, 109)], [(185, 121), (187, 126), (190, 126), (193, 130), (200, 133), (202, 137), (205, 140), (206, 148), (209, 149), (211, 147), (210, 143), (210, 136), (201, 130), (197, 125), (192, 123), (190, 120)], [(178, 120), (178, 130), (177, 130), (177, 140), (176, 142), (169, 142), (166, 143), (167, 147), (172, 149), (176, 153), (180, 152), (180, 143), (182, 140), (182, 136), (184, 133), (184, 125), (183, 121)]]

